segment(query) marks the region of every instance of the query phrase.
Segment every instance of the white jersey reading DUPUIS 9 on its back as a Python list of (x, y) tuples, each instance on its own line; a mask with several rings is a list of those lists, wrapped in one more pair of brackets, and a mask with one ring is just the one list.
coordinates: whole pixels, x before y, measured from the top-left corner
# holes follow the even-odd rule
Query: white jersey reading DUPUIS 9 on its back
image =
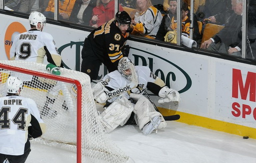
[(46, 32), (31, 29), (15, 36), (11, 48), (11, 60), (26, 60), (43, 63), (44, 56), (49, 63), (60, 66), (61, 56), (53, 37)]

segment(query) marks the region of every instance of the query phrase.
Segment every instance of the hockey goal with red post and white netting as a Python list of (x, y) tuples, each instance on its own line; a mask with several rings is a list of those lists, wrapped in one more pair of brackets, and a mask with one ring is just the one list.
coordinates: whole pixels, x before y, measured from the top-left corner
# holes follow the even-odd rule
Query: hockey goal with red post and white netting
[[(45, 64), (0, 60), (0, 96), (5, 96), (8, 76), (23, 80), (21, 95), (32, 98), (46, 123), (34, 140), (76, 152), (76, 162), (127, 162), (129, 157), (110, 139), (97, 117), (90, 79), (85, 73), (60, 68), (49, 74)], [(60, 144), (60, 145), (59, 145)]]

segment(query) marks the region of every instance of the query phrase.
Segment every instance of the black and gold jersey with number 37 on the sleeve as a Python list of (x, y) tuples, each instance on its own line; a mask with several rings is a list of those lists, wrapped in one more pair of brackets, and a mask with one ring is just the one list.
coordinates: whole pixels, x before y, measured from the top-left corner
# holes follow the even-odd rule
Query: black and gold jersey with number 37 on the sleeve
[(89, 35), (92, 50), (101, 62), (118, 65), (123, 57), (121, 48), (128, 39), (129, 32), (122, 34), (114, 23), (114, 18), (94, 29)]

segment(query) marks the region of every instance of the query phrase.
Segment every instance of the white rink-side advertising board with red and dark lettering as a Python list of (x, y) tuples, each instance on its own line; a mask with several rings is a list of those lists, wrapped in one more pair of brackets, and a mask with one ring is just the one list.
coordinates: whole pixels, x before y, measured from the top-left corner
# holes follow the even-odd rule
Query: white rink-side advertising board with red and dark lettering
[[(13, 36), (30, 25), (27, 19), (4, 14), (0, 22), (0, 59), (8, 59)], [(43, 31), (53, 36), (65, 67), (80, 70), (80, 52), (89, 32), (49, 23)], [(130, 40), (127, 44), (135, 65), (148, 66), (180, 92), (178, 105), (157, 106), (256, 128), (256, 66)], [(99, 79), (106, 73), (101, 66)], [(159, 97), (152, 98), (157, 103)]]

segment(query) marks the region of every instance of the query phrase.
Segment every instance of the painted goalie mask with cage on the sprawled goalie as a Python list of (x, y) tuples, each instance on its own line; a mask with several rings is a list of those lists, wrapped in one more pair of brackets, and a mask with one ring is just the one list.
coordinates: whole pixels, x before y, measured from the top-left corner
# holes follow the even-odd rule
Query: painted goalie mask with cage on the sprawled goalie
[(122, 57), (119, 60), (117, 68), (121, 75), (129, 81), (132, 80), (132, 76), (136, 76), (136, 74), (132, 74), (135, 73), (134, 65), (127, 57)]

